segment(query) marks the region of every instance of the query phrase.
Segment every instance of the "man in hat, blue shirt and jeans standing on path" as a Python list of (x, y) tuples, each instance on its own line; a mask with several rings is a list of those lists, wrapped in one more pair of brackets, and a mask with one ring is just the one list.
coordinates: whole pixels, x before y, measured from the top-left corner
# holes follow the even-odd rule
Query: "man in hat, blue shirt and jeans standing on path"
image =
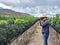
[(46, 15), (42, 15), (40, 19), (40, 26), (42, 26), (42, 35), (43, 35), (43, 40), (44, 40), (44, 45), (48, 45), (48, 37), (49, 37), (49, 26), (50, 22), (47, 20)]

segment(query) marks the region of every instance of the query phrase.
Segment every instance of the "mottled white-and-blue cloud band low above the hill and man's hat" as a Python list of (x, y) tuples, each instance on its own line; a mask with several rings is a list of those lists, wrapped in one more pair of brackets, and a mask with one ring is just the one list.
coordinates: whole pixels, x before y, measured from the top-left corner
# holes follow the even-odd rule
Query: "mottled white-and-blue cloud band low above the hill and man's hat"
[[(15, 9), (14, 9), (15, 10)], [(33, 16), (40, 17), (41, 14), (46, 13), (47, 16), (52, 16), (56, 13), (60, 13), (58, 6), (36, 6), (36, 7), (25, 7), (25, 8), (16, 8), (16, 11), (32, 14)]]

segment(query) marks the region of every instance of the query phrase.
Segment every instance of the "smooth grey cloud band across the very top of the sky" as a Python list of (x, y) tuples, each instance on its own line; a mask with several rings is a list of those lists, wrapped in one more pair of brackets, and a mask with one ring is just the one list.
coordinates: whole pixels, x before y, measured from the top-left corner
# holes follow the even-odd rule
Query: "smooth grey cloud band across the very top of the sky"
[(0, 0), (0, 3), (14, 7), (59, 6), (60, 0)]

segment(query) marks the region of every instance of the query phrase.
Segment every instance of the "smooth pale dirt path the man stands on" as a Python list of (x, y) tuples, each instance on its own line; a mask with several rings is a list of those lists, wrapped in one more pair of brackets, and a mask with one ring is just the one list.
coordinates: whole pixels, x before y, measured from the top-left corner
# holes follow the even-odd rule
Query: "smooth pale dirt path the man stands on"
[[(41, 34), (41, 26), (38, 24), (36, 27), (37, 33), (34, 34), (33, 39), (27, 45), (43, 45), (43, 39)], [(48, 39), (48, 45), (58, 45), (57, 36), (55, 30), (50, 27), (50, 35)]]

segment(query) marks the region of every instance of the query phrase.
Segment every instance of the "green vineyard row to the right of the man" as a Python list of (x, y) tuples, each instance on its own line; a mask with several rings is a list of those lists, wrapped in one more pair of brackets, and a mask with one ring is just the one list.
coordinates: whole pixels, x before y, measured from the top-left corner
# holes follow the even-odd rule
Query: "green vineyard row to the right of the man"
[(51, 26), (60, 34), (60, 14), (49, 18)]

